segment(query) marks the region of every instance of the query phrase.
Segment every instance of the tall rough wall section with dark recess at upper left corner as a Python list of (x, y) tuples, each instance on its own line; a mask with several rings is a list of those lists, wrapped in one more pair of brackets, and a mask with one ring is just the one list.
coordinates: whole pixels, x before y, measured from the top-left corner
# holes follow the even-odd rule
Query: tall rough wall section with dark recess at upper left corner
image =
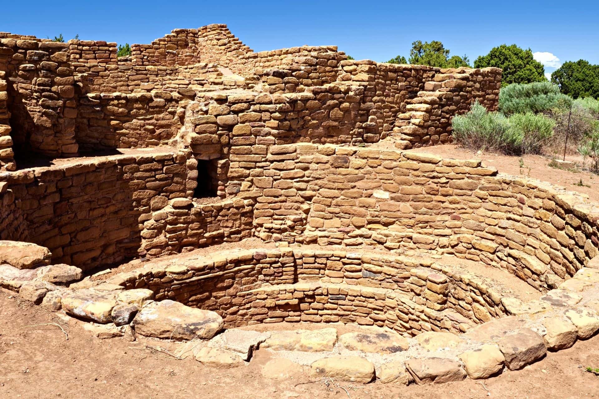
[[(74, 77), (68, 44), (5, 34), (0, 51), (8, 81), (8, 111), (19, 153), (68, 157), (77, 154), (74, 139)], [(14, 37), (13, 37), (14, 36)]]

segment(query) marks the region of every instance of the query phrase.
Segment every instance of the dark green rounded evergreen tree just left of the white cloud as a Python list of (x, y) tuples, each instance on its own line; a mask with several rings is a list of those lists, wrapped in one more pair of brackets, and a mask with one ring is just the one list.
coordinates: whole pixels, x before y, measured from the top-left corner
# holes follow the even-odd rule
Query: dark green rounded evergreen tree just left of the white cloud
[(502, 44), (494, 47), (486, 56), (474, 60), (474, 68), (494, 66), (503, 69), (501, 86), (511, 83), (532, 83), (545, 81), (543, 64), (533, 58), (533, 51), (522, 50), (515, 44)]

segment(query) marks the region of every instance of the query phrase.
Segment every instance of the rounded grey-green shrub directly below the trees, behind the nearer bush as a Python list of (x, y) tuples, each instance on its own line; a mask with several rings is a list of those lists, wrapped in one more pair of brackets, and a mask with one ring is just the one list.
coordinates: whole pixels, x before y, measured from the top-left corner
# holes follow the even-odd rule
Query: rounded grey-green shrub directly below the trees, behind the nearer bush
[(512, 83), (499, 93), (499, 109), (506, 115), (526, 112), (567, 112), (572, 99), (559, 92), (559, 86), (547, 81)]

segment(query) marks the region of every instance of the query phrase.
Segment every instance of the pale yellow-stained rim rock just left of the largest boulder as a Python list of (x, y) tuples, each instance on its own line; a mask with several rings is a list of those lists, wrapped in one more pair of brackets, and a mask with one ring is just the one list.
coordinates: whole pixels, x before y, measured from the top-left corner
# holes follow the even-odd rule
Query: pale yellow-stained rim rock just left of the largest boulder
[(111, 311), (116, 306), (115, 294), (111, 291), (86, 290), (65, 291), (62, 309), (72, 316), (93, 320), (102, 324), (111, 322)]

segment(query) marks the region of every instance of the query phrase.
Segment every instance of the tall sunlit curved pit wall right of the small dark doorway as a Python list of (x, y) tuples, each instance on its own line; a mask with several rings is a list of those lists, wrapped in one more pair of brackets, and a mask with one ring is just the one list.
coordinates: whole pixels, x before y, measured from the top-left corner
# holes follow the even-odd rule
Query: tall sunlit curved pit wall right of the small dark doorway
[(598, 211), (583, 196), (480, 161), (311, 144), (258, 151), (231, 162), (226, 190), (256, 201), (264, 240), (455, 254), (537, 288), (597, 255)]

